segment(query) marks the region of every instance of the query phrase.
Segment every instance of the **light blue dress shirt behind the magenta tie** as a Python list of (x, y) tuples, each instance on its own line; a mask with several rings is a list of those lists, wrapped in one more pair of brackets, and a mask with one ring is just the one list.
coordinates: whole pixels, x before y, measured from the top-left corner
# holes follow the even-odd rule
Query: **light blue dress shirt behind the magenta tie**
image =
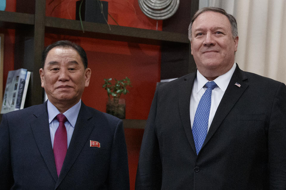
[[(57, 121), (56, 116), (60, 112), (49, 100), (48, 100), (47, 106), (48, 106), (51, 141), (52, 141), (52, 147), (54, 148), (55, 133), (56, 133), (57, 127), (59, 126), (59, 122)], [(80, 106), (81, 106), (81, 99), (76, 105), (69, 108), (69, 110), (63, 113), (63, 115), (65, 115), (67, 118), (67, 121), (65, 122), (65, 126), (66, 126), (67, 138), (68, 138), (68, 142), (67, 142), (68, 148), (69, 148), (69, 143), (71, 142), (72, 133), (74, 132), (75, 123), (77, 122), (77, 116), (78, 116), (78, 113), (80, 112)]]

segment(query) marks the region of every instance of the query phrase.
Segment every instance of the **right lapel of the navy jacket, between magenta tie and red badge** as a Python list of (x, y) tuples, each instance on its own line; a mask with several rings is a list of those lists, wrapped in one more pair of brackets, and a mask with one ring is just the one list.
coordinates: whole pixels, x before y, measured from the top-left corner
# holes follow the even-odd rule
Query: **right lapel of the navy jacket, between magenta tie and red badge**
[(92, 117), (92, 114), (86, 109), (86, 105), (81, 102), (80, 112), (77, 117), (77, 122), (74, 126), (74, 132), (71, 137), (71, 142), (69, 144), (68, 151), (66, 153), (65, 160), (63, 162), (63, 167), (59, 175), (59, 179), (55, 186), (55, 189), (65, 178), (66, 174), (69, 172), (74, 161), (79, 156), (83, 146), (85, 145), (88, 137), (93, 129), (93, 124), (88, 121)]

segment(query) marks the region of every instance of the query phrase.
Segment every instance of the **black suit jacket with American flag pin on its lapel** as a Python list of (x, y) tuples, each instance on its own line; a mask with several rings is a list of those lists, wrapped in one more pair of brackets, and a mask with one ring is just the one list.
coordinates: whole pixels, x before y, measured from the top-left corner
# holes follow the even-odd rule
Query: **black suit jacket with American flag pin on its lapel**
[(195, 77), (156, 89), (135, 189), (285, 190), (285, 84), (237, 66), (197, 155), (189, 114)]

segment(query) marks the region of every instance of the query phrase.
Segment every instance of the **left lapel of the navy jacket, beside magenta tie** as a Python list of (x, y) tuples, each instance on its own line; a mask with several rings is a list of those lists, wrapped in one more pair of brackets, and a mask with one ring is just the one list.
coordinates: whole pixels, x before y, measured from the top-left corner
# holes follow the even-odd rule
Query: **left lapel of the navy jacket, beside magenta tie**
[(40, 109), (37, 110), (34, 115), (36, 119), (32, 120), (31, 128), (35, 141), (51, 175), (53, 176), (54, 180), (57, 181), (57, 171), (51, 143), (46, 103), (42, 104)]

